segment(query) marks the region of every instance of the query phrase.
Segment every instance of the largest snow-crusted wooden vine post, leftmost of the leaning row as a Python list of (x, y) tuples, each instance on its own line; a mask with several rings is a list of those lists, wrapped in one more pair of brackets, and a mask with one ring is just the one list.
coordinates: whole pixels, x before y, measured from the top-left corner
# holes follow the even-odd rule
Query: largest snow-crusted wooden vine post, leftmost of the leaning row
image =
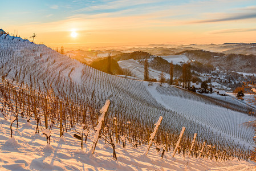
[(109, 104), (110, 104), (110, 101), (107, 100), (105, 102), (105, 105), (100, 109), (101, 116), (98, 119), (98, 124), (95, 128), (96, 132), (95, 132), (95, 135), (94, 135), (94, 140), (92, 141), (92, 148), (90, 149), (90, 152), (89, 152), (89, 154), (91, 154), (91, 155), (94, 154), (94, 150), (96, 148), (97, 141), (99, 140), (100, 132), (101, 132), (101, 129), (102, 129), (103, 124), (104, 124), (105, 114), (108, 111)]

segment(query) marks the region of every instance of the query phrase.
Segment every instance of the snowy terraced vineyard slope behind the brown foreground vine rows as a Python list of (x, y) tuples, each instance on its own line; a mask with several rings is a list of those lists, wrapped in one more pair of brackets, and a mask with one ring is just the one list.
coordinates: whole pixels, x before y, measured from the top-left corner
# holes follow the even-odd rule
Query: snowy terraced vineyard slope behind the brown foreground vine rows
[[(178, 88), (174, 91), (177, 97), (162, 96), (156, 86), (148, 88), (145, 82), (105, 74), (44, 45), (5, 35), (0, 36), (0, 59), (0, 72), (11, 82), (25, 82), (41, 90), (51, 87), (61, 98), (83, 101), (97, 109), (109, 99), (109, 113), (121, 113), (124, 121), (133, 118), (153, 125), (163, 116), (163, 125), (176, 131), (186, 127), (190, 137), (194, 133), (206, 137), (207, 131), (218, 131), (241, 140), (241, 144), (253, 143), (253, 129), (241, 124), (255, 118), (212, 105), (204, 107), (204, 102), (194, 101), (194, 96), (184, 100), (180, 94), (185, 91)], [(173, 105), (171, 101), (179, 103)], [(214, 110), (220, 112), (218, 117)], [(231, 120), (221, 121), (222, 116)], [(216, 126), (218, 121), (220, 127)]]

